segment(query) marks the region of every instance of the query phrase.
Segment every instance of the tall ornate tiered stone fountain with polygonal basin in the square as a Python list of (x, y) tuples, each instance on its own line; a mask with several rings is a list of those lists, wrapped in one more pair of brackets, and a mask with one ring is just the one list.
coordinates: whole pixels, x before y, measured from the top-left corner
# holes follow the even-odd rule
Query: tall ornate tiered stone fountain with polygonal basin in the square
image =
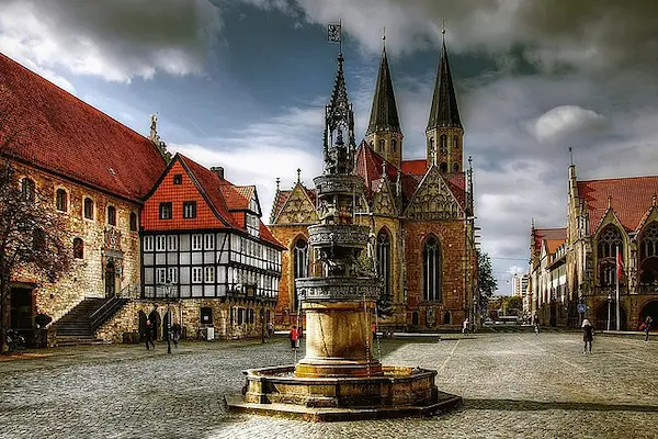
[(354, 115), (342, 64), (339, 55), (326, 110), (325, 169), (314, 179), (320, 221), (308, 233), (317, 275), (295, 281), (306, 314), (306, 356), (294, 365), (245, 371), (243, 398), (226, 397), (232, 409), (345, 420), (429, 415), (462, 401), (438, 391), (435, 371), (385, 367), (373, 356), (371, 324), (382, 282), (364, 255), (370, 227), (355, 222), (364, 181), (353, 172)]

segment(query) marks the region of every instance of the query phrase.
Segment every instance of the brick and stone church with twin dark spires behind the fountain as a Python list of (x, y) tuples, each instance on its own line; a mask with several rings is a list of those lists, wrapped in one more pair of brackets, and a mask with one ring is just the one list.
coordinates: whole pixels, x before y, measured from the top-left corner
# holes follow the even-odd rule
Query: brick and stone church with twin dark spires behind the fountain
[[(342, 61), (328, 104), (328, 110), (333, 108), (351, 109)], [(443, 43), (426, 131), (426, 157), (404, 158), (404, 134), (384, 48), (365, 138), (354, 145), (353, 153), (355, 173), (365, 180), (358, 222), (371, 226), (371, 260), (384, 281), (382, 302), (392, 312), (384, 325), (460, 327), (477, 311), (473, 184), (470, 169), (464, 170), (463, 139)], [(303, 184), (299, 175), (294, 188), (276, 190), (270, 227), (286, 247), (276, 307), (279, 325), (298, 319), (294, 280), (317, 269), (307, 227), (326, 209), (318, 205), (315, 190)]]

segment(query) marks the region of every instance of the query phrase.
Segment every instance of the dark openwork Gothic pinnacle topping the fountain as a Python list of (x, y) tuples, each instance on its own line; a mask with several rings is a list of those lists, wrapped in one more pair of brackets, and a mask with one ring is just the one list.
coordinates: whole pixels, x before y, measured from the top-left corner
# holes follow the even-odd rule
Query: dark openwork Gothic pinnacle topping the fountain
[(343, 61), (339, 54), (331, 100), (325, 109), (325, 173), (351, 173), (354, 166), (354, 112), (348, 98)]

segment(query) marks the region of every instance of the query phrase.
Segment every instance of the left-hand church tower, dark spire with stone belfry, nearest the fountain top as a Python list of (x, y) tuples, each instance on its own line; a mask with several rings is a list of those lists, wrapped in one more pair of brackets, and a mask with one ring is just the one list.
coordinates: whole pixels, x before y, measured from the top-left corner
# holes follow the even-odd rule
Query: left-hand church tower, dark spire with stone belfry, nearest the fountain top
[[(384, 38), (386, 43), (386, 38)], [(370, 124), (365, 132), (365, 138), (371, 148), (388, 162), (400, 169), (402, 161), (402, 131), (398, 117), (395, 93), (393, 92), (393, 80), (388, 69), (386, 57), (386, 45), (382, 52), (379, 75), (373, 97), (373, 109), (371, 111)]]

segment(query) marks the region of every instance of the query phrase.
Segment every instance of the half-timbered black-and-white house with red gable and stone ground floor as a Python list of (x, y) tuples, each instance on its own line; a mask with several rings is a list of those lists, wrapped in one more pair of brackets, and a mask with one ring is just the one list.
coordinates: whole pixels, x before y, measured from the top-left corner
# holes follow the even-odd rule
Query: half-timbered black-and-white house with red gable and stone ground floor
[(152, 309), (137, 309), (140, 325), (148, 311), (166, 327), (170, 309), (188, 336), (261, 335), (276, 304), (283, 247), (260, 217), (256, 187), (175, 155), (141, 211), (141, 297)]

